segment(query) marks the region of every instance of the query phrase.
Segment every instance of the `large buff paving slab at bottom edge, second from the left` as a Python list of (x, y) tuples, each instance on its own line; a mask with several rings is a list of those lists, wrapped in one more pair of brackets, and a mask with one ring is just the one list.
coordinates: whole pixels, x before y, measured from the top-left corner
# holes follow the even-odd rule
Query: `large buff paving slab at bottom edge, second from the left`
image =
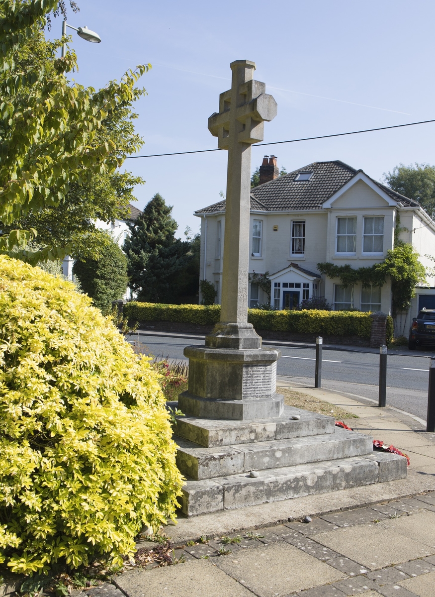
[(345, 575), (290, 544), (237, 553), (236, 562), (219, 558), (217, 567), (258, 597), (286, 596), (342, 580)]

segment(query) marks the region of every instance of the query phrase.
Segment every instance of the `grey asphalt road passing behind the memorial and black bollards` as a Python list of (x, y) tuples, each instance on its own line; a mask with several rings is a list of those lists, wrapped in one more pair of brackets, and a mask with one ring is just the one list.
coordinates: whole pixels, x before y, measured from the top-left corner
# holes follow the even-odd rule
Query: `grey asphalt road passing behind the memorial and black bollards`
[[(145, 344), (147, 352), (169, 359), (186, 359), (183, 349), (188, 344), (203, 344), (203, 339), (171, 336), (150, 336), (138, 333), (135, 340)], [(266, 343), (264, 343), (266, 346)], [(267, 342), (267, 347), (273, 343)], [(276, 345), (282, 358), (278, 376), (288, 377), (295, 384), (314, 384), (314, 347)], [(426, 419), (428, 371), (432, 350), (389, 353), (387, 357), (387, 404), (406, 413)], [(378, 401), (379, 354), (323, 349), (322, 387), (368, 401)]]

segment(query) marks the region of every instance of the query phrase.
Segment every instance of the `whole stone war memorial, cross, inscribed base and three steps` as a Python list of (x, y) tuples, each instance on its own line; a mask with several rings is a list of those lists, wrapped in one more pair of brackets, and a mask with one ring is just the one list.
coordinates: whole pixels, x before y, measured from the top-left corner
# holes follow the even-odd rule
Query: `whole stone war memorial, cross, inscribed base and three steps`
[(221, 321), (204, 346), (187, 346), (175, 441), (187, 516), (406, 477), (406, 458), (374, 453), (372, 438), (331, 417), (285, 406), (276, 393), (280, 350), (261, 348), (248, 324), (251, 145), (277, 114), (255, 63), (230, 64), (231, 89), (208, 119), (228, 150)]

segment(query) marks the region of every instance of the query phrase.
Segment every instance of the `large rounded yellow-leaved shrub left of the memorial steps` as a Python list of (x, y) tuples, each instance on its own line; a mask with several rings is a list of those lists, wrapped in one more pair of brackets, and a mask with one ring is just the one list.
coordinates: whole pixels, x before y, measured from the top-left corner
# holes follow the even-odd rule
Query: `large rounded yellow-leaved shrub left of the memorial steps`
[(181, 494), (158, 374), (73, 288), (0, 256), (0, 562), (14, 572), (120, 562)]

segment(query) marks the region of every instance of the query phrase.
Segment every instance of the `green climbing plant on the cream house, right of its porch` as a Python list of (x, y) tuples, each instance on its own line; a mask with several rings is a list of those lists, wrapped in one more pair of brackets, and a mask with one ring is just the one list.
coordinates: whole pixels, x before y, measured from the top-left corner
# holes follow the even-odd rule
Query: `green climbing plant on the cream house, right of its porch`
[(317, 269), (329, 278), (340, 279), (345, 286), (360, 283), (365, 288), (370, 285), (382, 286), (385, 278), (390, 276), (393, 314), (396, 315), (399, 311), (409, 309), (411, 299), (415, 296), (415, 287), (425, 282), (425, 268), (418, 257), (411, 244), (399, 241), (394, 249), (387, 251), (384, 261), (371, 267), (354, 269), (348, 263), (338, 266), (325, 262), (317, 263)]

